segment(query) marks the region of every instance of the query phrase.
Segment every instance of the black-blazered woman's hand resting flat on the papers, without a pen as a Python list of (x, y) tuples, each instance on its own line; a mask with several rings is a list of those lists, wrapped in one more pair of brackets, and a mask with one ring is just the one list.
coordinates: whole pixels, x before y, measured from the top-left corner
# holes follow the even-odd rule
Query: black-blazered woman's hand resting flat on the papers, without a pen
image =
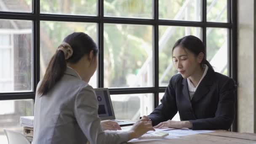
[(174, 121), (174, 120), (167, 120), (165, 122), (159, 123), (158, 125), (154, 126), (154, 128), (192, 128), (193, 125), (189, 121)]

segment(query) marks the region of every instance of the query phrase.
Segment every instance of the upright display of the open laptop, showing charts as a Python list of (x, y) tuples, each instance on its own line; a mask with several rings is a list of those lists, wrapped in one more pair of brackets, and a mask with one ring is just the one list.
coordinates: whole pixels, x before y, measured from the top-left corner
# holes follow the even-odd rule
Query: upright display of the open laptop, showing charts
[(98, 109), (99, 117), (113, 116), (107, 90), (95, 91), (95, 93), (99, 101), (99, 109)]

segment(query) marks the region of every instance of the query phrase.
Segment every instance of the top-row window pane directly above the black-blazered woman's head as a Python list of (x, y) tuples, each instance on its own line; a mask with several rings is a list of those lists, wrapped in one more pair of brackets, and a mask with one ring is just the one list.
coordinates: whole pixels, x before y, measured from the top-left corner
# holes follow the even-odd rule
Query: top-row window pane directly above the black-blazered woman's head
[(159, 19), (201, 21), (202, 0), (159, 0)]

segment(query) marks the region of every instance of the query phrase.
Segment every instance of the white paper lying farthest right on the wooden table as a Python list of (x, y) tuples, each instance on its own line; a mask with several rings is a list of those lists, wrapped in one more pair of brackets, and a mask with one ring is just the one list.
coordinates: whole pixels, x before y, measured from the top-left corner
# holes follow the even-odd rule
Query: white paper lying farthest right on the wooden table
[(198, 134), (198, 133), (211, 133), (214, 131), (206, 131), (206, 130), (193, 131), (190, 129), (174, 129), (174, 130), (169, 130), (165, 132), (169, 133), (169, 136), (187, 136), (187, 135)]

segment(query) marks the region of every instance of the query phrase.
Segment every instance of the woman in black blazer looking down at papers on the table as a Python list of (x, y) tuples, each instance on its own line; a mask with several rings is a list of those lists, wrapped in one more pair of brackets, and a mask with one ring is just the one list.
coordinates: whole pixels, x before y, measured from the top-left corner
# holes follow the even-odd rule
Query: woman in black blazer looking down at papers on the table
[[(141, 120), (152, 121), (155, 128), (229, 129), (235, 114), (234, 80), (214, 72), (195, 36), (179, 39), (172, 52), (179, 74), (171, 77), (162, 104)], [(181, 121), (171, 120), (177, 111)]]

